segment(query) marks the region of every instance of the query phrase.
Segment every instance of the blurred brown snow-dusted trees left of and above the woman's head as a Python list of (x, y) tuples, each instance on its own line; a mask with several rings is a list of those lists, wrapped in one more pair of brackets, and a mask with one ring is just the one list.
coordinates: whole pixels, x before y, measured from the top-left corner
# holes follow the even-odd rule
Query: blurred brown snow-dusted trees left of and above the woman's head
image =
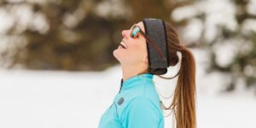
[[(0, 14), (11, 15), (1, 60), (4, 67), (102, 70), (113, 66), (121, 30), (146, 17), (172, 22), (169, 0), (5, 0)], [(9, 20), (7, 21), (9, 22)], [(2, 39), (3, 40), (3, 39)]]

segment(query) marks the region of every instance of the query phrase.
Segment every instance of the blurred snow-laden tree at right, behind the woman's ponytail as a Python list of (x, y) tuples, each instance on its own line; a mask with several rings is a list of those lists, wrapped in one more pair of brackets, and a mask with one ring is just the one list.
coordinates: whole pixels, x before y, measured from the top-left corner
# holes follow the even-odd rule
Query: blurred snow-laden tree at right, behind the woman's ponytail
[(198, 0), (172, 13), (177, 23), (188, 23), (183, 29), (186, 42), (207, 49), (207, 72), (230, 77), (226, 90), (234, 90), (241, 81), (256, 86), (255, 9), (253, 0)]

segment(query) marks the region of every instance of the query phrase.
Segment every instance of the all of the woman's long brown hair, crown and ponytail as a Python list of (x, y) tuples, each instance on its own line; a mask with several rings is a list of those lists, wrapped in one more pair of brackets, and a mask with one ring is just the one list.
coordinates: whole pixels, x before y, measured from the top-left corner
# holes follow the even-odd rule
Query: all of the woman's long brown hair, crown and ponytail
[(162, 79), (178, 77), (171, 106), (165, 107), (163, 102), (160, 103), (164, 110), (172, 110), (177, 128), (195, 128), (195, 59), (191, 51), (180, 43), (175, 28), (168, 22), (165, 25), (170, 66), (177, 65), (177, 52), (181, 53), (182, 58), (177, 75), (172, 78), (159, 76)]

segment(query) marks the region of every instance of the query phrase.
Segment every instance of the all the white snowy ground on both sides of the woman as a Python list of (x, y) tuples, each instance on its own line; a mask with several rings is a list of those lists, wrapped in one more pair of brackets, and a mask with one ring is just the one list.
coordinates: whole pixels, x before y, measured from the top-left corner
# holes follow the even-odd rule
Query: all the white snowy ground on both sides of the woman
[[(195, 56), (203, 57), (203, 51)], [(197, 61), (199, 128), (255, 128), (256, 96), (251, 91), (219, 93), (218, 73), (206, 76)], [(113, 102), (121, 79), (120, 67), (104, 72), (68, 73), (0, 70), (0, 128), (96, 128)], [(155, 78), (155, 81), (159, 79)], [(163, 82), (163, 81), (161, 81)], [(168, 81), (170, 82), (170, 81)], [(163, 82), (165, 83), (165, 82)], [(167, 82), (166, 82), (167, 83)], [(156, 85), (170, 94), (173, 84)], [(166, 118), (166, 128), (171, 127)]]

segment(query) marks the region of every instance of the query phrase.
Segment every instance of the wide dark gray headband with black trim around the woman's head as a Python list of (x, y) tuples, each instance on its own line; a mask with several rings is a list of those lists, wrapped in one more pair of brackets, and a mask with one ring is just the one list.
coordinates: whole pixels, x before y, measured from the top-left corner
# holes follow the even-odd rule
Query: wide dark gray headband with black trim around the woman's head
[(167, 58), (167, 61), (161, 59), (154, 47), (147, 43), (149, 72), (156, 75), (165, 74), (167, 67), (169, 67), (166, 24), (164, 20), (144, 19), (143, 25), (145, 27), (145, 33), (156, 43), (162, 54)]

